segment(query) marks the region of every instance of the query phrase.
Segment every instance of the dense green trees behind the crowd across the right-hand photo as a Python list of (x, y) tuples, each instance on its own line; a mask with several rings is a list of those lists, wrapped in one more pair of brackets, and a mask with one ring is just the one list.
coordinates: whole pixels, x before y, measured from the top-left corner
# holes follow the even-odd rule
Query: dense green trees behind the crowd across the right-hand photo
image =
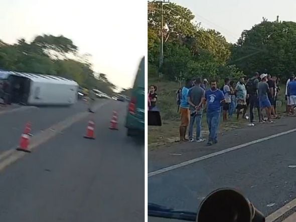
[(202, 76), (238, 79), (268, 72), (286, 79), (296, 71), (296, 23), (269, 22), (242, 32), (230, 44), (215, 30), (193, 23), (194, 15), (174, 3), (164, 4), (164, 63), (159, 70), (161, 3), (148, 2), (149, 78), (162, 72), (166, 80)]

